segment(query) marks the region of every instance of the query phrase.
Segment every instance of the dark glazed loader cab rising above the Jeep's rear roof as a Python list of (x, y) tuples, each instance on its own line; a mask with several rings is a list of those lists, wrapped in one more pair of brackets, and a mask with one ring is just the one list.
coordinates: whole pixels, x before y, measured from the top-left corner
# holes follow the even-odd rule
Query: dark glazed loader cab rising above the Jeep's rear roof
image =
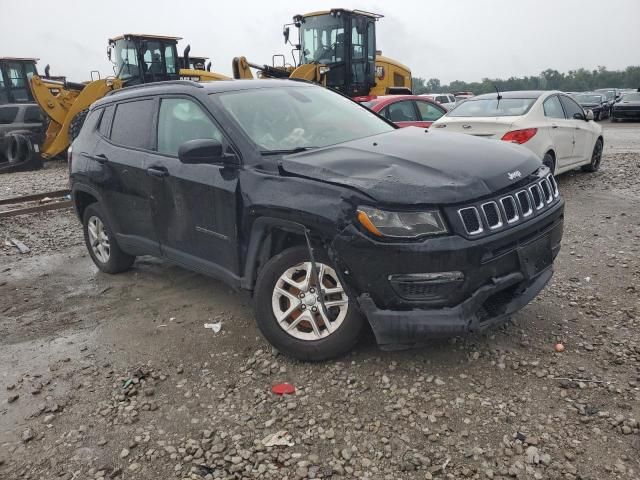
[(124, 34), (109, 39), (107, 53), (125, 85), (180, 79), (179, 37)]

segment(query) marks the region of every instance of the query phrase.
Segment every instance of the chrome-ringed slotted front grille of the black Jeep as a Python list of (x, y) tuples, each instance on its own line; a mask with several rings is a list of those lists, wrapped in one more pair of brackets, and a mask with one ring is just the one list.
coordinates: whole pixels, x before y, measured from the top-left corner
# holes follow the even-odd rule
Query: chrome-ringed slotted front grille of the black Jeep
[(458, 216), (467, 235), (508, 228), (553, 204), (560, 192), (553, 175), (546, 172), (543, 171), (535, 183), (522, 190), (503, 195), (499, 199), (459, 208)]

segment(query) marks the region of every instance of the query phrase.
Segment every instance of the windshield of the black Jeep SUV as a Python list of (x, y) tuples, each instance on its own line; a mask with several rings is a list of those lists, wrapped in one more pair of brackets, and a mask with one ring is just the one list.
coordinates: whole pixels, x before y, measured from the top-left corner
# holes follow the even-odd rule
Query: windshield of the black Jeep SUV
[(263, 153), (326, 147), (394, 130), (366, 108), (321, 87), (212, 94)]

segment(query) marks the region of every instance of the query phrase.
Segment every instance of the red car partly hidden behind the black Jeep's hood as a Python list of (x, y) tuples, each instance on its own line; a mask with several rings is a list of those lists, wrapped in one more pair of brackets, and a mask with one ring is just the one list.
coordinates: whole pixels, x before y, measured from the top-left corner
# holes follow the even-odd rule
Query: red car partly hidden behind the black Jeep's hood
[(382, 95), (362, 100), (365, 107), (399, 127), (428, 128), (447, 113), (438, 103), (418, 95)]

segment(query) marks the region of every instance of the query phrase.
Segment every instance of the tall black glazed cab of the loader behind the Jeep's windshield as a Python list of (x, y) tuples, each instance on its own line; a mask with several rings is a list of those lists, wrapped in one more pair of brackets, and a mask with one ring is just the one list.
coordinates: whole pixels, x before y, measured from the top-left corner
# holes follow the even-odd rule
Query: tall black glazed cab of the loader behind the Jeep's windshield
[[(369, 95), (376, 84), (376, 21), (382, 15), (333, 9), (296, 15), (299, 64), (328, 67), (327, 87), (350, 97)], [(284, 27), (285, 42), (289, 25)]]

